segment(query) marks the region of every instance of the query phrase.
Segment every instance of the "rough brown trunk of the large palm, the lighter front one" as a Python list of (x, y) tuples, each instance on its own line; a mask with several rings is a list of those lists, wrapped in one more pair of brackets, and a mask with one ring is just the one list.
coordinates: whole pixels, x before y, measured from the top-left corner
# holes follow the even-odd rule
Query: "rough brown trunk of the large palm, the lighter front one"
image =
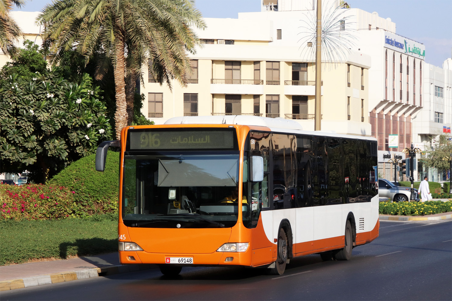
[(121, 130), (123, 127), (127, 126), (127, 104), (126, 104), (126, 91), (125, 91), (125, 80), (124, 80), (124, 36), (121, 32), (116, 35), (116, 45), (115, 45), (115, 60), (116, 64), (113, 65), (114, 74), (114, 84), (116, 91), (116, 113), (114, 120), (116, 123), (116, 139), (121, 139)]

